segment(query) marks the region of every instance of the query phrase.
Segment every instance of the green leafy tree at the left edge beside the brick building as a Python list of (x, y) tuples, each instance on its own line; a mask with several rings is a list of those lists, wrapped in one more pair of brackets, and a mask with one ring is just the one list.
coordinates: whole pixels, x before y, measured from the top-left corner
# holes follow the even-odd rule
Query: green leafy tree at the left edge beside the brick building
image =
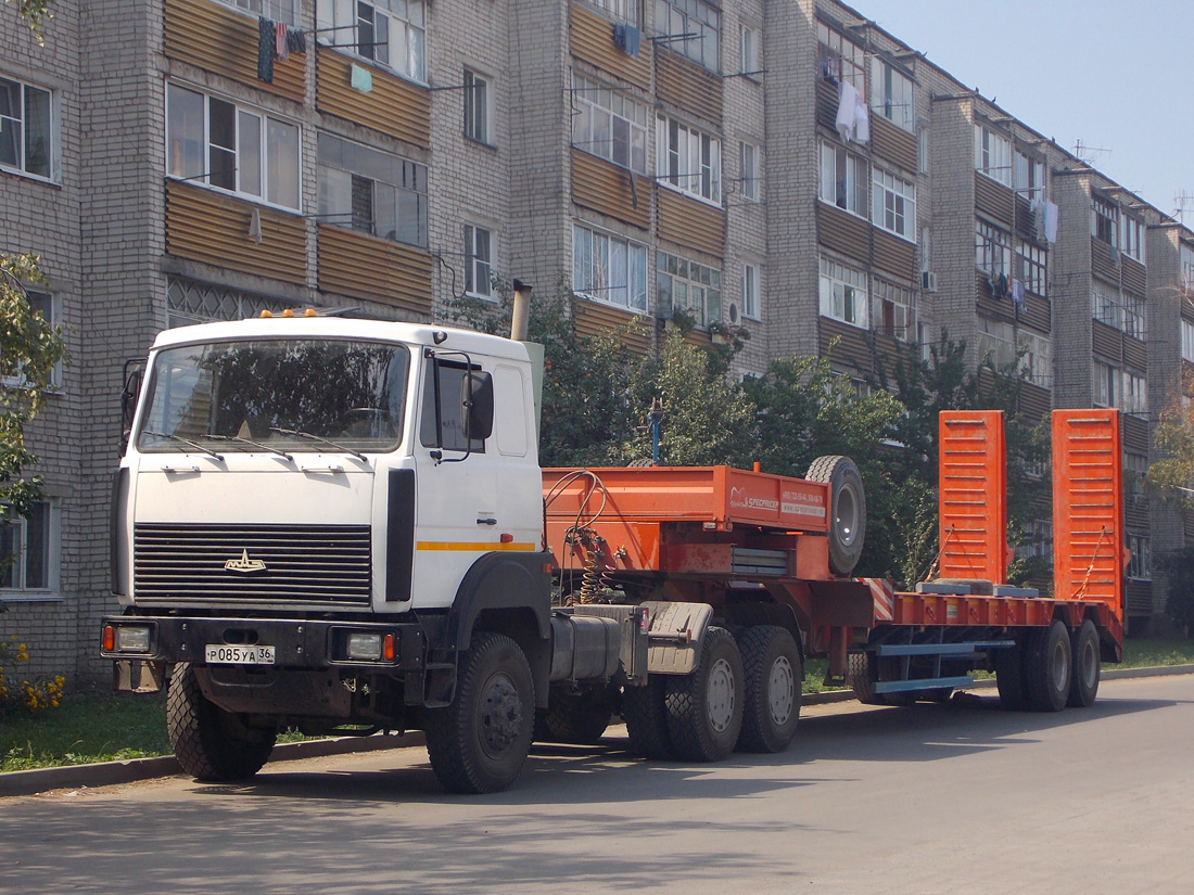
[[(25, 448), (25, 425), (42, 409), (55, 365), (66, 357), (62, 332), (32, 308), (25, 284), (45, 282), (37, 255), (0, 255), (0, 525), (41, 499), (38, 462)], [(8, 557), (7, 561), (11, 561)]]

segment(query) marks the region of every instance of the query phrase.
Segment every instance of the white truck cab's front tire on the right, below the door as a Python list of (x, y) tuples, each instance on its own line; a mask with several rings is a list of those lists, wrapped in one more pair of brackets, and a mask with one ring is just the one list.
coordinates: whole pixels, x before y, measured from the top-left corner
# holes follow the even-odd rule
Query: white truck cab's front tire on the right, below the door
[(460, 658), (456, 698), (426, 712), (431, 770), (449, 792), (500, 792), (518, 779), (535, 729), (535, 681), (510, 637), (481, 631)]

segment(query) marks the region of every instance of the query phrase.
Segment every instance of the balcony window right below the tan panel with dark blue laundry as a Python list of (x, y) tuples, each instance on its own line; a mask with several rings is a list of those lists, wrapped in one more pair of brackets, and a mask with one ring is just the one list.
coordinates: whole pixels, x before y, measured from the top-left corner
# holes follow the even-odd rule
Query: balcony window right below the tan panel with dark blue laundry
[(647, 106), (624, 91), (572, 75), (572, 144), (640, 174), (647, 173)]

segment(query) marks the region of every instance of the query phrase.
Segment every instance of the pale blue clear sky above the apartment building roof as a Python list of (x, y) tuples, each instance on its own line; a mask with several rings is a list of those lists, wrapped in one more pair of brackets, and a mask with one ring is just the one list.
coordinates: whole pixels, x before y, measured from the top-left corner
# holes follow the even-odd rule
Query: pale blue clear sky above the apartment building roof
[(1194, 0), (847, 0), (966, 87), (1194, 227)]

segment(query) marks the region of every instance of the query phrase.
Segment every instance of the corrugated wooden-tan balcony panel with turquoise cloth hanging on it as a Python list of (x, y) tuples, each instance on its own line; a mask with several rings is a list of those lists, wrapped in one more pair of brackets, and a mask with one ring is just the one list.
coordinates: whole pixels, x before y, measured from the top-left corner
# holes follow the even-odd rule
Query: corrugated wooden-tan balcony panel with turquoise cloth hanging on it
[[(369, 70), (373, 87), (368, 93), (352, 87), (353, 64)], [(426, 87), (326, 47), (315, 56), (315, 107), (414, 146), (431, 147), (431, 92)]]

